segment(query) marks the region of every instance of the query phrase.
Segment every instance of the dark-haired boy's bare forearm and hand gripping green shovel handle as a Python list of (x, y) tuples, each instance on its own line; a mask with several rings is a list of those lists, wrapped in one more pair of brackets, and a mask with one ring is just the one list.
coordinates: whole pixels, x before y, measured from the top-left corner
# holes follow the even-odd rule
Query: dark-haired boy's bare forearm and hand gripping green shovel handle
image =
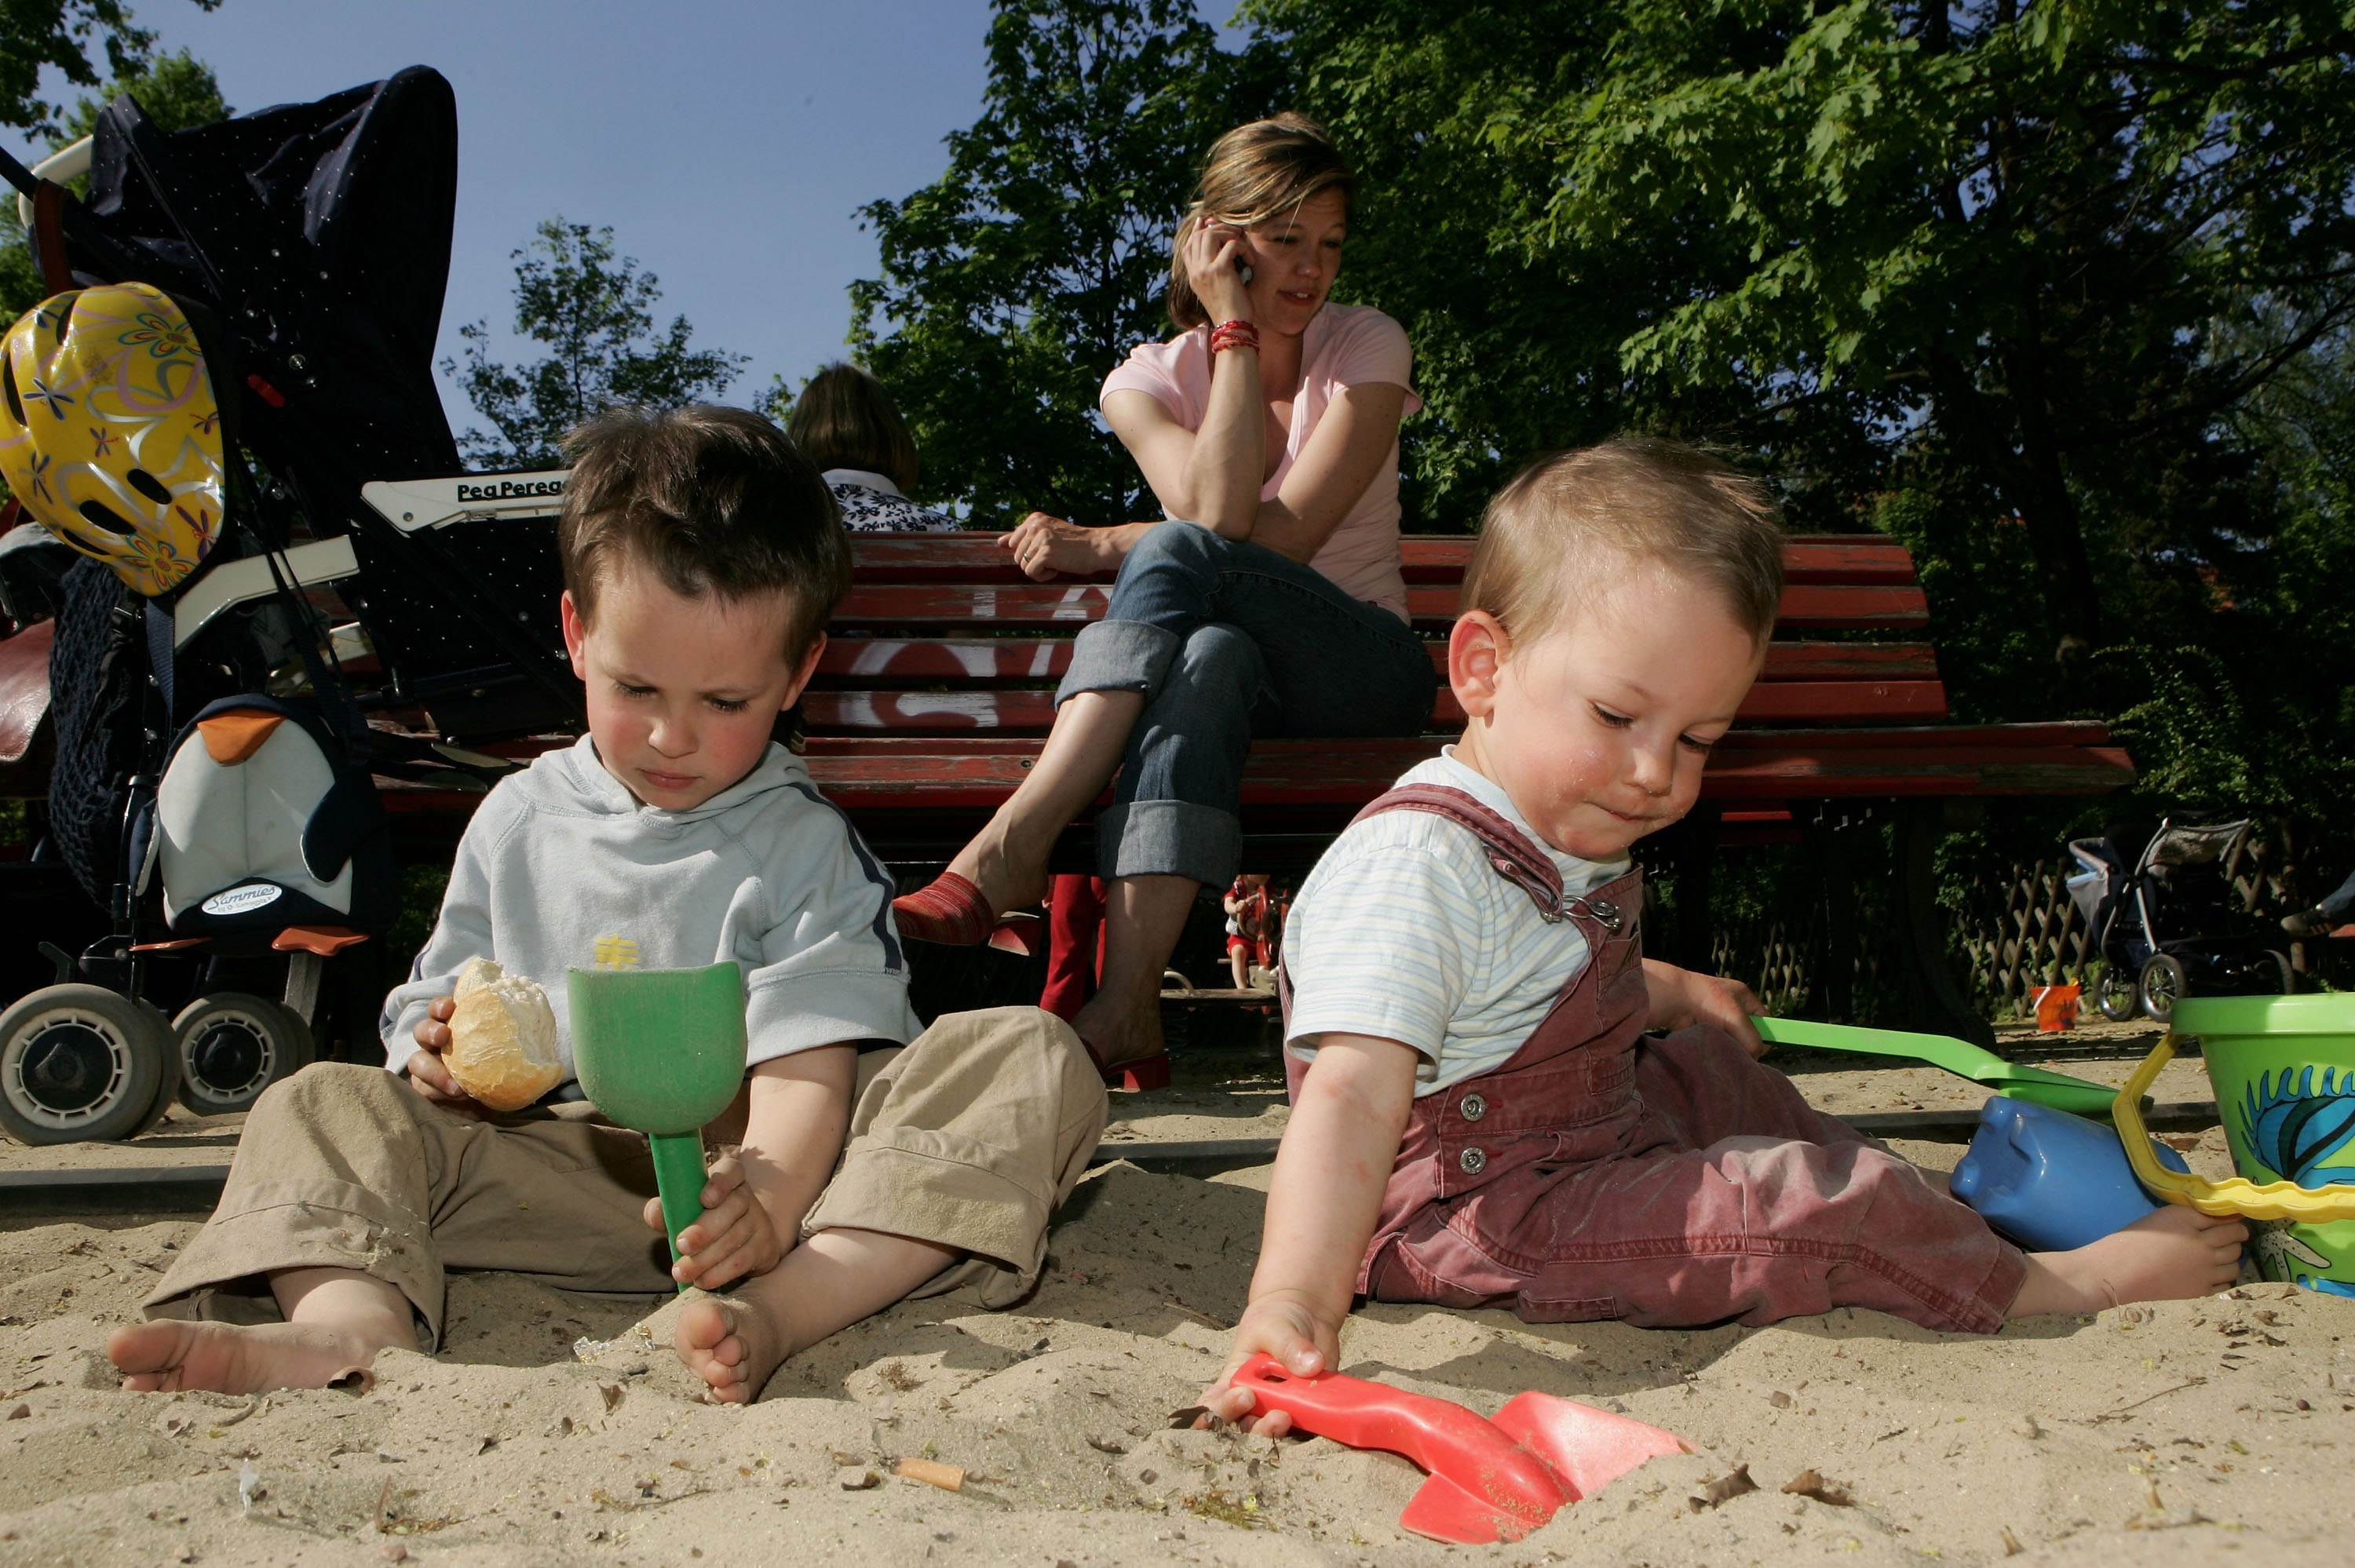
[[(768, 1274), (801, 1236), (801, 1217), (834, 1175), (850, 1130), (857, 1048), (817, 1045), (770, 1057), (747, 1083), (744, 1144), (711, 1165), (704, 1212), (678, 1231), (671, 1278), (718, 1290)], [(645, 1222), (662, 1229), (662, 1201), (648, 1198)]]

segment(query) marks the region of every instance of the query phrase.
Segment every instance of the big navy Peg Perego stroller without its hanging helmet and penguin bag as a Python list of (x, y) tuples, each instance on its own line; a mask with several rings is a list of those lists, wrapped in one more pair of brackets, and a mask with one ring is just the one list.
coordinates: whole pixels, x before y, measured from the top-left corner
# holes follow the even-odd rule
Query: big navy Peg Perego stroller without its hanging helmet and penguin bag
[[(68, 162), (45, 167), (71, 177)], [(205, 341), (214, 393), (240, 405), (243, 426), (228, 450), (221, 542), (148, 600), (151, 690), (130, 704), (144, 737), (130, 775), (113, 782), (122, 822), (139, 819), (162, 746), (205, 699), (285, 690), (287, 645), (330, 720), (341, 713), (332, 727), (346, 749), (377, 775), (480, 793), (516, 763), (478, 746), (577, 732), (582, 697), (556, 593), (537, 591), (553, 574), (546, 520), (565, 476), (464, 473), (433, 386), (457, 186), (450, 85), (412, 66), (318, 104), (191, 132), (155, 129), (125, 94), (99, 115), (87, 167), (92, 195), (78, 202), (0, 153), (0, 179), (35, 214), (28, 228), (49, 292), (139, 280), (203, 311), (214, 323)], [(245, 469), (247, 452), (259, 471)], [(542, 527), (511, 527), (525, 518)], [(485, 520), (509, 527), (455, 527)], [(313, 598), (330, 589), (351, 626), (320, 622)], [(382, 678), (356, 683), (367, 662)], [(419, 709), (431, 723), (384, 723)], [(212, 942), (200, 996), (172, 1024), (144, 998), (153, 963), (184, 963), (198, 942), (158, 930), (153, 841), (125, 831), (118, 859), (101, 911), (108, 932), (80, 954), (45, 944), (57, 984), (0, 1012), (0, 1123), (16, 1137), (127, 1137), (174, 1095), (200, 1111), (238, 1109), (191, 1095), (188, 1029), (205, 1024), (191, 1015), (224, 996), (217, 979), (264, 977), (226, 994), (233, 1008), (212, 1008), (205, 1024), (276, 1052), (273, 1069), (247, 1074), (250, 1102), (311, 1057), (325, 961), (363, 939), (290, 928), (268, 944)], [(54, 866), (40, 871), (54, 881)], [(280, 961), (283, 984), (266, 979)], [(40, 1026), (42, 1005), (78, 1019), (78, 1050), (104, 1083), (89, 1114), (28, 1128), (12, 1114), (28, 1107), (9, 1074), (21, 1078), (14, 1043)]]

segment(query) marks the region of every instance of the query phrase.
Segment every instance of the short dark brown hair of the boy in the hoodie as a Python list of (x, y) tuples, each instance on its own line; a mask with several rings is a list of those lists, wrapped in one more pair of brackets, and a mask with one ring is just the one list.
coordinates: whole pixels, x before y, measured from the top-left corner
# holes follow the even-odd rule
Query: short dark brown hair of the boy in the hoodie
[(572, 478), (556, 520), (565, 589), (584, 622), (622, 565), (671, 593), (794, 600), (798, 659), (850, 591), (841, 506), (784, 431), (742, 407), (615, 407), (565, 433)]

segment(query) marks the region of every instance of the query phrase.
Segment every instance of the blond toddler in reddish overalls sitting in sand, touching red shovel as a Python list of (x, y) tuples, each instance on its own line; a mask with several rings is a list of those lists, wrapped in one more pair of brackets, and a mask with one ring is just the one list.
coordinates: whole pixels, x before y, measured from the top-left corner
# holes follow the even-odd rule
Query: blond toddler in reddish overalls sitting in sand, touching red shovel
[(2174, 1205), (2023, 1255), (1762, 1067), (1747, 986), (1641, 956), (1627, 850), (1700, 793), (1766, 657), (1780, 544), (1764, 487), (1653, 440), (1547, 457), (1488, 506), (1448, 640), (1465, 735), (1293, 902), (1293, 1118), (1213, 1413), (1248, 1420), (1227, 1377), (1258, 1351), (1331, 1370), (1354, 1295), (1992, 1333), (2233, 1283), (2244, 1227)]

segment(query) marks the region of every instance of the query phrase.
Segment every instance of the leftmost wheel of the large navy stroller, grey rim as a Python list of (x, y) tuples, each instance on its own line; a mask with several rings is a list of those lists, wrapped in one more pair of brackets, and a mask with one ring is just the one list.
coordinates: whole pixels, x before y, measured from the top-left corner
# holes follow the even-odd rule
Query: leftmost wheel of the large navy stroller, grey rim
[(0, 1012), (0, 1130), (21, 1144), (137, 1137), (170, 1062), (155, 1008), (106, 986), (42, 986)]

